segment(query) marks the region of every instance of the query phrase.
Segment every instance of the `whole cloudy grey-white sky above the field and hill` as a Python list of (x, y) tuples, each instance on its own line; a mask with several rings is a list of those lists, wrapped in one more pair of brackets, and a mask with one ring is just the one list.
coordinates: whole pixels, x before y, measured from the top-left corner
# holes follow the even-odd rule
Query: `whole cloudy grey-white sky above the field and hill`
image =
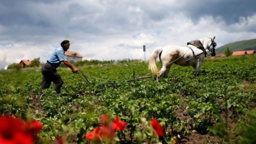
[(84, 59), (146, 59), (154, 48), (216, 36), (256, 38), (255, 0), (0, 0), (0, 69), (45, 62), (64, 39)]

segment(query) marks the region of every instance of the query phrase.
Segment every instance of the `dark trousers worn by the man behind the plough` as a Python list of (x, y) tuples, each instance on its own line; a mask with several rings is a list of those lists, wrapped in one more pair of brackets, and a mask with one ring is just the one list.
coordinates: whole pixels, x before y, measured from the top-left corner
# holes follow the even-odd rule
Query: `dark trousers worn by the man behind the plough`
[(57, 70), (49, 63), (45, 63), (42, 66), (42, 84), (41, 84), (41, 90), (39, 92), (40, 95), (42, 95), (43, 89), (48, 89), (51, 86), (51, 83), (53, 82), (55, 84), (55, 92), (60, 93), (60, 89), (63, 85), (63, 80), (61, 76), (58, 74)]

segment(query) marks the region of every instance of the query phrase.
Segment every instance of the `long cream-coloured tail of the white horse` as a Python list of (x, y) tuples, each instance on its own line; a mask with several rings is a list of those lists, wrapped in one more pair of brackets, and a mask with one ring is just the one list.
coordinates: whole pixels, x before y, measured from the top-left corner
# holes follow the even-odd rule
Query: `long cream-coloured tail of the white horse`
[(158, 47), (156, 48), (149, 59), (149, 63), (148, 63), (148, 69), (151, 70), (151, 72), (155, 73), (157, 76), (159, 75), (159, 71), (157, 69), (157, 63), (156, 63), (156, 59), (158, 57), (158, 54), (162, 51), (162, 47)]

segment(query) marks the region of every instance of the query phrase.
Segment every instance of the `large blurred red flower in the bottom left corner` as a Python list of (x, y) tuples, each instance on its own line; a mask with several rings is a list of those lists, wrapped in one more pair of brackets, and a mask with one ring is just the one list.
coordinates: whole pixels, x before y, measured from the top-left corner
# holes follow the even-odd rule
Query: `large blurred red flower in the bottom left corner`
[(32, 144), (32, 135), (27, 133), (25, 123), (16, 117), (0, 118), (0, 144)]

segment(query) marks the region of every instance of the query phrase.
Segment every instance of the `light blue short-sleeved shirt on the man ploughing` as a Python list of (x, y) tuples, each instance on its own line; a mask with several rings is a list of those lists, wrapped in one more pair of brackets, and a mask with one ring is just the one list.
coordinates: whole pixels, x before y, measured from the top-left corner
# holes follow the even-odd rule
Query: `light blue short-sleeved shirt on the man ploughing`
[(53, 51), (53, 54), (50, 58), (48, 58), (47, 61), (50, 62), (55, 68), (57, 68), (64, 60), (66, 60), (65, 51), (62, 47), (59, 47)]

